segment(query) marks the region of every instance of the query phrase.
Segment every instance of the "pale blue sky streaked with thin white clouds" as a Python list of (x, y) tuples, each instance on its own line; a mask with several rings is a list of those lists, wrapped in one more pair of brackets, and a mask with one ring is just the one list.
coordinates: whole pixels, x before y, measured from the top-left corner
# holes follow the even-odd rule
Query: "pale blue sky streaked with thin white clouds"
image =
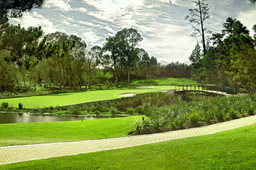
[[(192, 27), (184, 20), (193, 0), (48, 0), (42, 9), (11, 20), (22, 27), (42, 26), (45, 34), (56, 31), (74, 34), (87, 45), (99, 45), (124, 28), (135, 28), (143, 41), (140, 48), (155, 56), (158, 62), (184, 62), (197, 40)], [(228, 17), (240, 20), (253, 35), (256, 5), (248, 0), (208, 0), (211, 18), (205, 27), (220, 32)]]

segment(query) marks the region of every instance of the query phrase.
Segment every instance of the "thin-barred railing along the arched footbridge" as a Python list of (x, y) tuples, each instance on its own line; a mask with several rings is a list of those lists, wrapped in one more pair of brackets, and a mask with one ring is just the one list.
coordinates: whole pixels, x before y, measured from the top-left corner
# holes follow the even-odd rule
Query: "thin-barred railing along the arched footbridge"
[(182, 84), (182, 85), (176, 85), (175, 90), (203, 90), (203, 91), (209, 91), (209, 92), (215, 92), (215, 93), (222, 93), (222, 94), (230, 94), (230, 95), (236, 95), (237, 89), (230, 88), (223, 85), (214, 85), (214, 84)]

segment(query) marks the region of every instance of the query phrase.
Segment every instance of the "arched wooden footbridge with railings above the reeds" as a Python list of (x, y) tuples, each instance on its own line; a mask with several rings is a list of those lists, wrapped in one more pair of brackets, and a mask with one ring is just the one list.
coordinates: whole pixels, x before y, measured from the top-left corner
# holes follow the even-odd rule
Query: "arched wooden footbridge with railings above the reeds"
[(213, 84), (182, 84), (175, 86), (175, 93), (181, 96), (228, 96), (236, 95), (237, 89)]

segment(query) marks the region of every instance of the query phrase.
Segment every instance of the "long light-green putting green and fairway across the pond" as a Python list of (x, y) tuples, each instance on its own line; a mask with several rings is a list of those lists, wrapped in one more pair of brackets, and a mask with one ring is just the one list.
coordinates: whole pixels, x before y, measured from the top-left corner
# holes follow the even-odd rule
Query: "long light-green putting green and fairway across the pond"
[(8, 102), (9, 106), (18, 107), (19, 103), (23, 104), (23, 108), (37, 108), (49, 106), (65, 106), (84, 102), (110, 100), (121, 98), (118, 97), (124, 93), (150, 93), (161, 90), (175, 89), (175, 86), (155, 86), (155, 88), (136, 88), (136, 86), (111, 89), (111, 90), (96, 90), (76, 93), (64, 93), (55, 95), (32, 96), (22, 98), (0, 99), (0, 103)]

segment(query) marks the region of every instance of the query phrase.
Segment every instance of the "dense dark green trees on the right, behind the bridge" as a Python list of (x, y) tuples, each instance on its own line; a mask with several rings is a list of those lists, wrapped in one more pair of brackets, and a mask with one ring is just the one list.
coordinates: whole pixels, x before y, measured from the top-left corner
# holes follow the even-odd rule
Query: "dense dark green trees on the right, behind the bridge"
[(213, 45), (201, 53), (197, 44), (189, 60), (195, 80), (207, 84), (222, 84), (241, 92), (256, 90), (256, 24), (254, 36), (241, 21), (228, 17), (220, 33), (212, 36)]

